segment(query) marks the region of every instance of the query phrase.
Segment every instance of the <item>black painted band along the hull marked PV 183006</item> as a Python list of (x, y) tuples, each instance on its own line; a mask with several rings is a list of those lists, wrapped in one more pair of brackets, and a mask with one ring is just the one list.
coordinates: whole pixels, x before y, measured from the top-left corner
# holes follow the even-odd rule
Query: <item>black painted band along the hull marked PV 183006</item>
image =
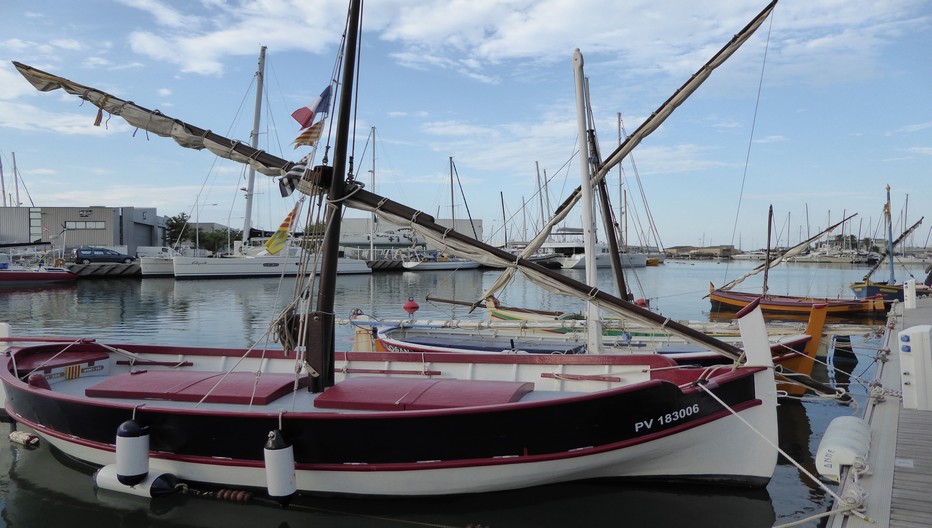
[[(130, 419), (132, 411), (127, 406), (51, 397), (48, 391), (8, 383), (5, 389), (7, 409), (17, 421), (101, 447), (113, 444), (117, 427)], [(753, 378), (747, 377), (716, 393), (740, 407), (759, 403), (753, 391)], [(559, 404), (398, 413), (391, 419), (384, 414), (288, 413), (283, 432), (294, 445), (299, 465), (407, 465), (423, 460), (456, 465), (488, 463), (503, 456), (566, 457), (570, 450), (587, 446), (618, 447), (726, 413), (707, 395), (684, 395), (668, 383), (613, 392)], [(635, 433), (638, 422), (693, 404), (700, 410), (688, 421)], [(136, 420), (149, 427), (150, 447), (158, 456), (223, 457), (235, 464), (261, 464), (262, 446), (278, 425), (278, 416), (267, 413), (178, 412), (148, 406), (136, 411)]]

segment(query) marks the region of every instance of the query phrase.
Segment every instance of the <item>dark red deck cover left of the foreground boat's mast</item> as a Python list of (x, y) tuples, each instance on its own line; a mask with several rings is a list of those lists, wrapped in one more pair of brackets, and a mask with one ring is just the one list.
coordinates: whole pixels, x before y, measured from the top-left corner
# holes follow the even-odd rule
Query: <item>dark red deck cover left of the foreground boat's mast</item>
[[(307, 386), (306, 375), (297, 381), (298, 388)], [(92, 398), (267, 405), (294, 388), (295, 376), (288, 373), (265, 373), (257, 379), (255, 372), (142, 370), (107, 378), (85, 389), (84, 394)]]

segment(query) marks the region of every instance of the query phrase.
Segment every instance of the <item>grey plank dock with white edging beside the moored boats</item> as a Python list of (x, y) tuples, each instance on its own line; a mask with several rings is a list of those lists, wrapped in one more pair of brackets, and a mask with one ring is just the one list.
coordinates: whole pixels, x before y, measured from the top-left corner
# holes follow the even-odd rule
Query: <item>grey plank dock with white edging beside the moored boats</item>
[[(828, 528), (932, 526), (930, 325), (932, 299), (907, 297), (891, 309), (860, 416), (870, 429), (867, 463), (858, 460), (841, 473)], [(827, 460), (817, 456), (816, 462)]]

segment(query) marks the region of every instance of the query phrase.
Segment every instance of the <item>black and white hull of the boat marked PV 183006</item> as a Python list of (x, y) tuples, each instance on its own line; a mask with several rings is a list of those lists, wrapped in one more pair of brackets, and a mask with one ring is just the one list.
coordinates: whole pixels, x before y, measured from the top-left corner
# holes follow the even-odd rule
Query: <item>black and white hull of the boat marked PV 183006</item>
[[(66, 346), (46, 346), (42, 357), (51, 357)], [(150, 359), (164, 353), (174, 363), (184, 358), (185, 364), (194, 365), (214, 364), (224, 357), (233, 360), (244, 354), (114, 346)], [(72, 346), (69, 350), (94, 349), (100, 350), (91, 344), (79, 345), (77, 350)], [(292, 368), (293, 360), (273, 359), (270, 355), (274, 356), (266, 353), (266, 363), (275, 363), (270, 368), (280, 374)], [(25, 361), (23, 357), (20, 359)], [(519, 364), (550, 363), (551, 367), (565, 364), (547, 357), (429, 359), (432, 369), (442, 371), (472, 368), (513, 372)], [(334, 388), (323, 393), (336, 390), (331, 393), (337, 394), (331, 398), (336, 404), (327, 406), (318, 402), (303, 409), (292, 407), (291, 395), (268, 405), (251, 406), (209, 401), (171, 403), (152, 397), (133, 398), (129, 393), (114, 398), (87, 396), (88, 388), (111, 376), (131, 376), (128, 368), (115, 366), (119, 364), (116, 357), (107, 360), (98, 357), (98, 361), (110, 362), (114, 371), (100, 376), (101, 381), (87, 378), (96, 367), (86, 364), (71, 370), (72, 374), (86, 370), (84, 379), (57, 381), (53, 388), (41, 388), (14, 376), (9, 359), (0, 375), (10, 416), (64, 453), (99, 466), (112, 464), (116, 430), (126, 420), (135, 418), (151, 431), (150, 471), (169, 472), (185, 481), (216, 486), (264, 487), (262, 446), (269, 431), (279, 428), (279, 424), (287, 441), (294, 446), (298, 489), (312, 493), (458, 494), (603, 477), (761, 486), (769, 480), (776, 461), (776, 453), (715, 399), (701, 389), (681, 389), (669, 381), (650, 380), (607, 390), (574, 392), (558, 399), (552, 399), (552, 392), (535, 389), (530, 394), (536, 396), (530, 399), (471, 407), (463, 407), (462, 395), (457, 396), (454, 391), (450, 396), (458, 402), (456, 405), (385, 411), (384, 407), (394, 405), (397, 397), (360, 403), (339, 396), (340, 390), (348, 390), (344, 387), (359, 384), (364, 390), (354, 394), (372, 392), (368, 390), (372, 389), (369, 386), (373, 383), (372, 376), (352, 372), (363, 370), (371, 374), (374, 369), (354, 365), (382, 365), (382, 376), (374, 378), (379, 380), (375, 385), (379, 385), (398, 381), (385, 377), (384, 365), (393, 360), (421, 368), (423, 363), (410, 354), (346, 353), (337, 360), (337, 372), (344, 372), (347, 378), (338, 379)], [(608, 361), (625, 360), (616, 357)], [(341, 362), (344, 364), (340, 365)], [(140, 368), (160, 370), (154, 364)], [(175, 373), (170, 370), (166, 375)], [(417, 382), (423, 381), (423, 377), (421, 374)], [(570, 383), (538, 379), (541, 384)], [(86, 388), (71, 393), (59, 390), (75, 383), (84, 383)], [(520, 380), (512, 383), (526, 385)], [(709, 387), (742, 418), (775, 434), (775, 406), (770, 401), (775, 398), (771, 394), (773, 383), (773, 376), (766, 369), (749, 368), (719, 376)], [(141, 381), (135, 385), (140, 384), (144, 385)], [(306, 402), (310, 397), (303, 390), (299, 394), (299, 398), (304, 398), (299, 401)], [(282, 411), (285, 408), (290, 410)], [(731, 448), (734, 442), (745, 446), (742, 451), (746, 452), (736, 454)], [(696, 445), (703, 446), (703, 456), (697, 457), (689, 449)]]

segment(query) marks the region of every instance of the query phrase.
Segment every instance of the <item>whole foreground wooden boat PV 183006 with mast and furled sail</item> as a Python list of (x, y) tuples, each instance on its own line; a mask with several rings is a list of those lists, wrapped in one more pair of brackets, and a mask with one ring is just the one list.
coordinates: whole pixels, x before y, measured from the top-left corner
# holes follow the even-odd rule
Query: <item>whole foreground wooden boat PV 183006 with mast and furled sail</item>
[[(744, 348), (738, 349), (344, 179), (360, 4), (350, 4), (341, 48), (347, 59), (338, 84), (333, 166), (300, 174), (297, 190), (325, 195), (335, 218), (348, 206), (395, 225), (416, 225), (451, 251), (510, 263), (606, 310), (663, 325), (731, 357), (733, 365), (683, 367), (657, 354), (336, 353), (340, 222), (329, 222), (319, 279), (311, 283), (314, 274), (308, 274), (306, 282), (296, 281), (294, 304), (270, 325), (281, 349), (8, 337), (3, 341), (15, 346), (5, 350), (0, 382), (10, 416), (64, 454), (101, 466), (99, 487), (147, 496), (174, 491), (179, 481), (261, 489), (281, 502), (297, 492), (445, 495), (590, 478), (765, 485), (777, 458), (776, 388), (757, 307), (740, 314)], [(773, 6), (694, 76), (692, 86)], [(574, 62), (581, 86), (578, 51)], [(285, 176), (294, 166), (99, 90), (16, 66), (41, 90), (64, 88), (181, 145), (209, 144), (264, 174)], [(317, 292), (313, 307), (311, 291)]]

